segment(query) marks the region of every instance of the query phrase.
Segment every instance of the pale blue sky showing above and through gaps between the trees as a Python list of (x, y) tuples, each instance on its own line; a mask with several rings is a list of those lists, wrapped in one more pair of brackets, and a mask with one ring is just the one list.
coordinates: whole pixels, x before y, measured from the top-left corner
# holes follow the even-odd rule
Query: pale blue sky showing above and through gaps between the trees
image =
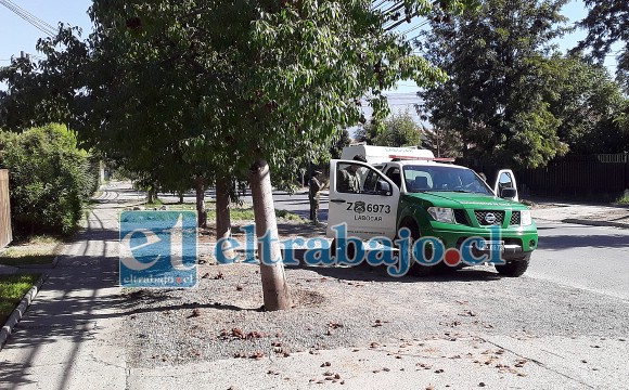
[[(0, 66), (10, 64), (11, 56), (20, 56), (21, 51), (30, 55), (38, 55), (36, 51), (37, 40), (44, 36), (44, 32), (20, 17), (9, 10), (4, 4), (15, 4), (27, 11), (30, 15), (56, 27), (59, 22), (81, 27), (84, 37), (91, 31), (91, 21), (87, 14), (91, 0), (0, 0)], [(564, 8), (564, 15), (572, 22), (583, 18), (587, 11), (581, 0), (572, 0)], [(401, 31), (409, 29), (401, 26)], [(410, 32), (416, 35), (418, 31)], [(556, 43), (561, 50), (567, 50), (585, 37), (582, 30), (577, 30), (569, 36), (565, 36)], [(607, 56), (606, 63), (611, 72), (615, 72), (615, 58)], [(418, 102), (415, 92), (416, 86), (412, 81), (401, 81), (398, 89), (389, 92), (389, 104), (394, 112), (410, 109)], [(365, 110), (369, 116), (369, 112)], [(419, 120), (419, 118), (416, 118)]]

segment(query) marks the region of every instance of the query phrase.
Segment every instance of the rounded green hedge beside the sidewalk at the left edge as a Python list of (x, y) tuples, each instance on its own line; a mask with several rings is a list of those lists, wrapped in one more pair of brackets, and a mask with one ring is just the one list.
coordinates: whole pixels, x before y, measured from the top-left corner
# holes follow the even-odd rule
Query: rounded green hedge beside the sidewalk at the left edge
[(0, 167), (9, 169), (17, 236), (70, 233), (98, 186), (89, 154), (62, 125), (0, 132)]

